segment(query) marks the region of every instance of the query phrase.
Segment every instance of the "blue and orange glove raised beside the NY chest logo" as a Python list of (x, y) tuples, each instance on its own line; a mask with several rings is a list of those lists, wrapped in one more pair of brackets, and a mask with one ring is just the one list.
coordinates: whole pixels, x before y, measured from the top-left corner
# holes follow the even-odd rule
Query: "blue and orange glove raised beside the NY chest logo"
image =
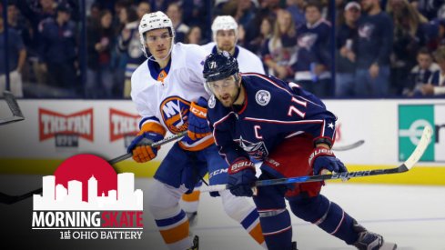
[(195, 141), (210, 133), (211, 130), (207, 124), (207, 101), (204, 97), (199, 97), (197, 103), (193, 102), (190, 105), (187, 136)]

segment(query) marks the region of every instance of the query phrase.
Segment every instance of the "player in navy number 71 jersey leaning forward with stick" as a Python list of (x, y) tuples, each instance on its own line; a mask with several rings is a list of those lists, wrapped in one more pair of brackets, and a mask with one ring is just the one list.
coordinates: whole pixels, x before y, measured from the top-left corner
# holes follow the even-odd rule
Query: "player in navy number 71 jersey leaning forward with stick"
[[(315, 95), (273, 76), (239, 74), (228, 53), (211, 54), (203, 75), (207, 120), (219, 154), (228, 161), (233, 195), (252, 196), (257, 180), (249, 157), (263, 161), (260, 180), (346, 172), (332, 153), (336, 116)], [(395, 249), (369, 232), (343, 209), (320, 195), (322, 182), (258, 186), (253, 195), (268, 249), (292, 249), (292, 226), (285, 198), (294, 215), (359, 249)]]

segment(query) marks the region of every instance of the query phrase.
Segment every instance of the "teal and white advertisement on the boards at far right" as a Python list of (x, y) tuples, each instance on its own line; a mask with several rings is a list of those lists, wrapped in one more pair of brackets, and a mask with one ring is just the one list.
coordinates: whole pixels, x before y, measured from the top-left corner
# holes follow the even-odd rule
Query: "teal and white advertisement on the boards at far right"
[[(442, 115), (440, 115), (442, 114)], [(420, 140), (423, 128), (433, 128), (431, 143), (420, 161), (445, 162), (443, 139), (440, 128), (445, 127), (445, 105), (399, 105), (399, 161), (405, 161)], [(443, 134), (443, 133), (442, 133)], [(443, 135), (442, 135), (443, 136)]]

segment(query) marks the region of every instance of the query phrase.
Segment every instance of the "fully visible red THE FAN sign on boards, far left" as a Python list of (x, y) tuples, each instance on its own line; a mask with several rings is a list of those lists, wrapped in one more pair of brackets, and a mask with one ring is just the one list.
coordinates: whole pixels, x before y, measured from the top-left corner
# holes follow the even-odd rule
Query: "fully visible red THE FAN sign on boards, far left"
[(63, 115), (39, 108), (39, 140), (56, 138), (56, 147), (78, 147), (79, 137), (93, 141), (93, 109)]

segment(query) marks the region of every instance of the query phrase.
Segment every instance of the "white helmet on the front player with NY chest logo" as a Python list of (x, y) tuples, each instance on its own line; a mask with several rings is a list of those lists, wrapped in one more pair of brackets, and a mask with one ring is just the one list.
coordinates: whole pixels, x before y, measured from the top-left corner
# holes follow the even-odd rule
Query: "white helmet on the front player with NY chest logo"
[(173, 37), (171, 39), (171, 48), (173, 48), (173, 44), (175, 43), (175, 29), (173, 28), (173, 23), (171, 22), (170, 18), (168, 18), (168, 16), (161, 11), (152, 12), (142, 16), (139, 23), (139, 37), (142, 44), (142, 51), (146, 56), (147, 51), (145, 34), (150, 30), (162, 28), (167, 28), (170, 35)]

